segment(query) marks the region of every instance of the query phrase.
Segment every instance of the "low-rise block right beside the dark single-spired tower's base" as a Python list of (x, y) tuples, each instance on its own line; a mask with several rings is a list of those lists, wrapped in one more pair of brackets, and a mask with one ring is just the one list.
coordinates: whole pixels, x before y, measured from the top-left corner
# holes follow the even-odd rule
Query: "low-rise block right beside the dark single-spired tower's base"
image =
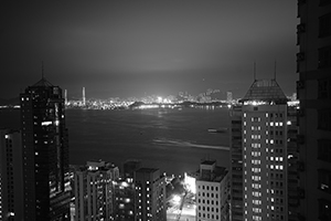
[(75, 221), (114, 220), (118, 175), (118, 167), (105, 161), (88, 161), (75, 172)]

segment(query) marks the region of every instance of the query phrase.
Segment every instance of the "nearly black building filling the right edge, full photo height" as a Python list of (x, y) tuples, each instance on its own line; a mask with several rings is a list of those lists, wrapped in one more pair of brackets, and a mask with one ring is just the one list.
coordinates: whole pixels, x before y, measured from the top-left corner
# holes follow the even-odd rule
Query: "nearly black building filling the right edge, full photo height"
[(299, 220), (331, 220), (331, 2), (298, 0)]

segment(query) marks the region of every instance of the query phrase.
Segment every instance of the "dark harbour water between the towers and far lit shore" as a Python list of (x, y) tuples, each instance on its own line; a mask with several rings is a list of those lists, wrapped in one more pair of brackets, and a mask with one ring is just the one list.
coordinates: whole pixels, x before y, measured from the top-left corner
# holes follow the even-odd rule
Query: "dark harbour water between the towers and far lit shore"
[[(0, 110), (0, 127), (19, 127), (19, 112)], [(145, 167), (182, 173), (199, 168), (202, 159), (227, 167), (228, 133), (207, 133), (228, 127), (226, 108), (142, 110), (66, 109), (70, 162), (84, 165), (103, 159), (119, 166), (139, 159)]]

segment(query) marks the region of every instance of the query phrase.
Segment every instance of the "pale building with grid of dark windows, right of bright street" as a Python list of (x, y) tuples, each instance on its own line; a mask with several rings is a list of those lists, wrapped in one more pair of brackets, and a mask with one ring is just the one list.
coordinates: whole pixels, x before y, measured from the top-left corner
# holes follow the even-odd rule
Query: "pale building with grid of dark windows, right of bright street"
[(196, 221), (229, 220), (229, 180), (224, 167), (215, 160), (204, 160), (200, 165), (196, 187)]

